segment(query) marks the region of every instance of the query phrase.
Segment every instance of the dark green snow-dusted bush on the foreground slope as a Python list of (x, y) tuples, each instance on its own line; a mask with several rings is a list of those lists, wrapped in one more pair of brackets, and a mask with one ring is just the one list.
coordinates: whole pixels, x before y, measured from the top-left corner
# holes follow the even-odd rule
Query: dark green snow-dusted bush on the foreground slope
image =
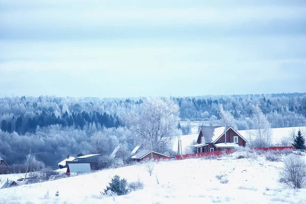
[(104, 189), (104, 194), (108, 194), (108, 192), (111, 191), (117, 195), (125, 195), (128, 192), (126, 188), (126, 179), (120, 179), (119, 175), (115, 175), (109, 185), (110, 186), (107, 186), (106, 189)]

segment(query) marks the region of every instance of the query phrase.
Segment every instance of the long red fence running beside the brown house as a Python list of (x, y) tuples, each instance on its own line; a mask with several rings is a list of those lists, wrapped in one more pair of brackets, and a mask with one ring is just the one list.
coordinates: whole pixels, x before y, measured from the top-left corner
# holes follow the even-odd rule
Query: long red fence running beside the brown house
[[(292, 149), (295, 148), (293, 146), (287, 147), (267, 147), (267, 148), (251, 148), (254, 150), (262, 150), (262, 151), (271, 151), (271, 150), (284, 150), (284, 149)], [(197, 157), (209, 157), (209, 156), (220, 156), (220, 155), (228, 155), (232, 154), (235, 150), (225, 150), (225, 151), (213, 151), (213, 152), (200, 152), (198, 154), (187, 154), (187, 155), (173, 155), (177, 160), (183, 159), (191, 159)]]

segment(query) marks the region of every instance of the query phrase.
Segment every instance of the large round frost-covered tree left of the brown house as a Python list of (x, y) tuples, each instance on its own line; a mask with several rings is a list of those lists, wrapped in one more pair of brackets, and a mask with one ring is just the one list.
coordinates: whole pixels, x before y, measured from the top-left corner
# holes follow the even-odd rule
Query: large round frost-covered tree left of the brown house
[[(147, 98), (141, 104), (140, 113), (130, 114), (131, 130), (146, 149), (165, 152), (173, 136), (180, 135), (177, 123), (180, 108), (170, 98)], [(151, 144), (152, 142), (152, 144)]]

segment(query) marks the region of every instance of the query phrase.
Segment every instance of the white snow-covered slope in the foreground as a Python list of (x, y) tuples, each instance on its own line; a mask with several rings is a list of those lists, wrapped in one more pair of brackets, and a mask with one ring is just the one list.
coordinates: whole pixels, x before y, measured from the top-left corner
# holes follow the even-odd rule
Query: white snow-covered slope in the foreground
[[(235, 159), (240, 153), (235, 154), (233, 157), (219, 160), (189, 159), (159, 162), (156, 163), (152, 176), (146, 171), (145, 164), (140, 164), (56, 181), (0, 189), (0, 202), (306, 203), (306, 189), (284, 189), (277, 182), (282, 162), (268, 162), (263, 156)], [(101, 196), (100, 191), (106, 188), (115, 174), (125, 177), (128, 182), (137, 181), (139, 178), (145, 187), (143, 190), (124, 196)], [(2, 179), (4, 177), (5, 175), (1, 175)], [(55, 196), (57, 190), (58, 197)]]

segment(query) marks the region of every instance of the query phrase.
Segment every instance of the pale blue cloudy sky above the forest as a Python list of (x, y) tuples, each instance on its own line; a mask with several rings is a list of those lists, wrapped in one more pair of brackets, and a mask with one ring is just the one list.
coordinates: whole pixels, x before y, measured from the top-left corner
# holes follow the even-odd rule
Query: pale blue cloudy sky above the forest
[(0, 0), (0, 97), (306, 92), (306, 1)]

